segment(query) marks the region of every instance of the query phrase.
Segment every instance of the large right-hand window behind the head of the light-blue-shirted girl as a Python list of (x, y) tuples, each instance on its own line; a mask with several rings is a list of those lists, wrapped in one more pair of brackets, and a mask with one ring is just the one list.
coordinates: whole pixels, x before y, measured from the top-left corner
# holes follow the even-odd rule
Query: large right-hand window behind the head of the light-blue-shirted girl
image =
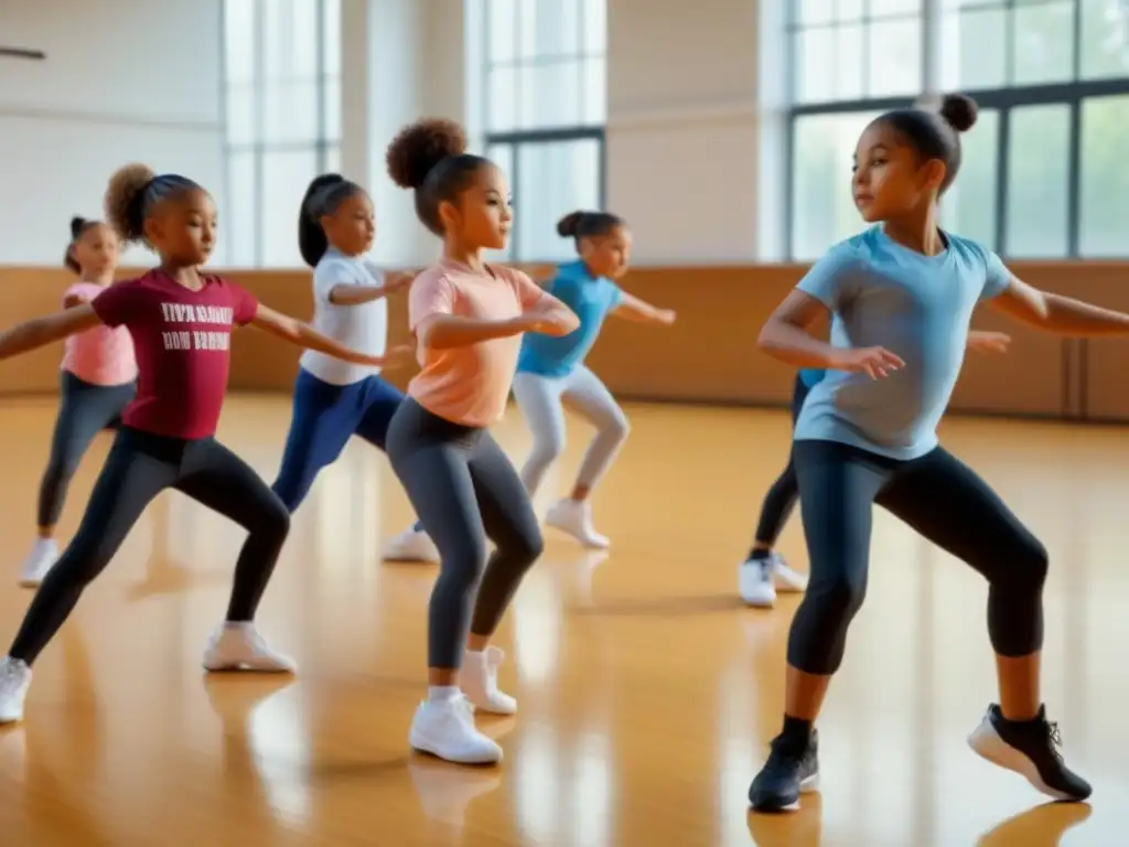
[(787, 252), (863, 228), (851, 154), (875, 115), (922, 90), (980, 105), (946, 226), (1021, 259), (1129, 255), (1129, 2), (795, 0), (789, 3)]

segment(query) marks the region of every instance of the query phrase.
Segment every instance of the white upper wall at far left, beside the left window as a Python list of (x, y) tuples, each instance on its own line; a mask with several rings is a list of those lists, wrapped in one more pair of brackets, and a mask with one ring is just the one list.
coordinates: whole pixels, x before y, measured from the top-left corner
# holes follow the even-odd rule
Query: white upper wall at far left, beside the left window
[(0, 58), (0, 263), (59, 264), (70, 217), (100, 217), (128, 161), (190, 176), (222, 211), (221, 33), (221, 0), (0, 2), (0, 45), (47, 53)]

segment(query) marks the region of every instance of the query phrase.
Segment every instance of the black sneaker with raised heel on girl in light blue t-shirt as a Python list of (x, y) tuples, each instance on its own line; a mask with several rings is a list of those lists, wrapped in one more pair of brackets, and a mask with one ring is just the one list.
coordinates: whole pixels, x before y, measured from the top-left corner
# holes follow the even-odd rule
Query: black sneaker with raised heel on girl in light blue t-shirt
[(1054, 800), (1078, 802), (1093, 791), (1089, 783), (1066, 767), (1058, 724), (1047, 721), (1042, 706), (1034, 721), (1008, 721), (999, 706), (992, 704), (980, 726), (969, 736), (969, 746), (992, 765), (1026, 777), (1035, 788)]

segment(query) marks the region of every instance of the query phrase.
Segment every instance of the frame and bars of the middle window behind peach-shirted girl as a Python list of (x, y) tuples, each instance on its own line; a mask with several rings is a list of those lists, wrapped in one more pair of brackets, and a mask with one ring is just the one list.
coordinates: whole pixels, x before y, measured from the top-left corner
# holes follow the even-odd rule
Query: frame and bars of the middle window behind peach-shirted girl
[[(576, 77), (577, 85), (583, 86), (584, 81), (584, 62), (590, 59), (604, 59), (605, 71), (604, 71), (604, 86), (607, 85), (607, 72), (606, 72), (606, 58), (607, 58), (607, 46), (604, 45), (603, 53), (590, 53), (584, 50), (585, 40), (585, 14), (587, 10), (587, 5), (580, 2), (580, 0), (570, 0), (570, 2), (576, 2), (578, 7), (578, 21), (577, 21), (577, 34), (579, 47), (576, 53), (566, 54), (548, 54), (548, 55), (532, 55), (526, 58), (516, 56), (506, 61), (496, 62), (491, 58), (490, 51), (490, 32), (491, 32), (491, 9), (493, 8), (495, 0), (482, 0), (482, 66), (480, 68), (480, 73), (482, 85), (481, 85), (481, 103), (479, 105), (479, 113), (482, 116), (482, 126), (484, 131), (482, 132), (483, 149), (489, 150), (491, 147), (508, 146), (513, 150), (513, 167), (511, 172), (507, 175), (510, 184), (511, 202), (516, 207), (522, 202), (519, 195), (520, 185), (520, 158), (522, 149), (528, 147), (537, 147), (541, 145), (550, 143), (562, 143), (569, 141), (595, 141), (599, 150), (598, 154), (598, 171), (596, 175), (597, 185), (597, 198), (599, 207), (603, 208), (607, 202), (607, 133), (606, 133), (606, 110), (604, 115), (604, 121), (601, 123), (576, 123), (566, 124), (560, 126), (551, 128), (528, 128), (528, 129), (515, 129), (515, 130), (492, 130), (490, 128), (490, 77), (491, 72), (497, 68), (510, 68), (515, 70), (519, 76), (531, 68), (536, 68), (546, 63), (563, 62), (564, 60), (571, 60), (576, 66)], [(514, 16), (514, 27), (515, 27), (515, 38), (520, 33), (522, 20), (520, 11)], [(511, 256), (510, 261), (514, 262), (527, 262), (536, 263), (543, 261), (543, 256), (524, 256), (522, 253), (522, 228), (514, 227), (513, 234), (510, 235), (510, 243), (508, 246), (508, 253)]]

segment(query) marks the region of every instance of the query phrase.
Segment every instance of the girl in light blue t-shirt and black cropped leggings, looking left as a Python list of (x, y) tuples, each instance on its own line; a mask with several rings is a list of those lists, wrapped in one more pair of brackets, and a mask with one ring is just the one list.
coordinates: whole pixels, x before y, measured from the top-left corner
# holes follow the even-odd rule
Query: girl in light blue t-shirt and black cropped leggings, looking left
[[(811, 561), (788, 638), (781, 733), (749, 789), (756, 811), (794, 809), (819, 776), (814, 724), (863, 604), (870, 513), (878, 504), (978, 570), (999, 704), (969, 739), (987, 760), (1057, 800), (1089, 796), (1047, 718), (1038, 680), (1047, 549), (979, 475), (937, 443), (981, 303), (1061, 335), (1129, 334), (1129, 315), (1039, 291), (986, 247), (943, 232), (938, 199), (961, 164), (975, 104), (875, 119), (851, 189), (875, 226), (832, 247), (764, 324), (760, 346), (799, 368), (825, 368), (796, 421), (793, 459)], [(830, 343), (808, 330), (831, 317)]]

